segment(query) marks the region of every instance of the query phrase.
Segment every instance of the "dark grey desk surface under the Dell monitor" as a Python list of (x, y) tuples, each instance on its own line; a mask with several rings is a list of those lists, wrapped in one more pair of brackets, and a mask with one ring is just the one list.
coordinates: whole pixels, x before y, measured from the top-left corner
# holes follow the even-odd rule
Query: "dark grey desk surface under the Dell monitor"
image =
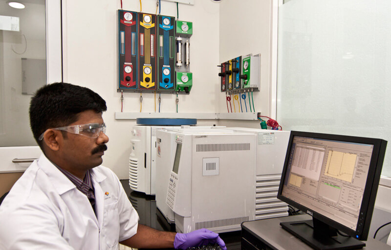
[[(251, 233), (258, 240), (273, 250), (313, 250), (304, 242), (290, 234), (288, 231), (282, 229), (280, 226), (280, 222), (308, 219), (311, 219), (311, 216), (302, 214), (266, 220), (248, 221), (243, 222), (242, 230), (246, 230), (247, 232)], [(364, 242), (366, 247), (364, 247), (363, 250), (391, 250), (391, 246), (388, 246), (387, 244), (384, 244), (383, 242), (373, 238), (369, 238)]]

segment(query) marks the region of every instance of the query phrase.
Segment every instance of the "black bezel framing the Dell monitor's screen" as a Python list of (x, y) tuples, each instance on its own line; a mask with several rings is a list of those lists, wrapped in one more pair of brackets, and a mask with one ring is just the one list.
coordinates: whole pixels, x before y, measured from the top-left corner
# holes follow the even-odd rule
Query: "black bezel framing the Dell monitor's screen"
[[(290, 151), (292, 148), (293, 138), (295, 136), (373, 145), (373, 151), (369, 163), (369, 173), (367, 176), (365, 191), (363, 194), (363, 200), (361, 202), (357, 228), (355, 231), (282, 195), (282, 188), (285, 182), (286, 171), (287, 171), (289, 157), (290, 157)], [(280, 182), (277, 198), (286, 202), (289, 205), (292, 205), (300, 209), (303, 212), (312, 215), (316, 219), (322, 220), (323, 222), (330, 225), (331, 227), (343, 231), (354, 238), (357, 238), (359, 240), (367, 240), (370, 221), (372, 218), (372, 212), (373, 212), (374, 203), (376, 199), (377, 188), (380, 181), (380, 174), (383, 166), (386, 146), (387, 146), (387, 141), (382, 139), (376, 139), (376, 138), (291, 131), (288, 147), (286, 150), (285, 161), (282, 170), (281, 182)]]

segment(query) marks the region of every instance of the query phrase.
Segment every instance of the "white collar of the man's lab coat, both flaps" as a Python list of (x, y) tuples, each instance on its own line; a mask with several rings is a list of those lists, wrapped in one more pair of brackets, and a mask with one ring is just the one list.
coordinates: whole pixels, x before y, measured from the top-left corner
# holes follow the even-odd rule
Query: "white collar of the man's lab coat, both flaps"
[[(54, 164), (44, 155), (41, 154), (40, 158), (37, 161), (38, 167), (43, 170), (47, 175), (50, 182), (53, 183), (54, 189), (62, 195), (63, 193), (76, 188), (68, 177), (63, 173)], [(106, 179), (106, 176), (95, 169), (91, 169), (91, 178), (96, 182), (102, 182)], [(95, 187), (94, 187), (95, 188)]]

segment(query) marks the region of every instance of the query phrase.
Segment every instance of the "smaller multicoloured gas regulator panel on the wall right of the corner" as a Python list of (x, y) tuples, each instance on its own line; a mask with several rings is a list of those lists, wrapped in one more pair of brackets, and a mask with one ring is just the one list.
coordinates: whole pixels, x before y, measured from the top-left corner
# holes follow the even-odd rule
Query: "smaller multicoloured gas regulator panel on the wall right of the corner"
[(260, 91), (261, 54), (239, 56), (217, 66), (221, 92)]

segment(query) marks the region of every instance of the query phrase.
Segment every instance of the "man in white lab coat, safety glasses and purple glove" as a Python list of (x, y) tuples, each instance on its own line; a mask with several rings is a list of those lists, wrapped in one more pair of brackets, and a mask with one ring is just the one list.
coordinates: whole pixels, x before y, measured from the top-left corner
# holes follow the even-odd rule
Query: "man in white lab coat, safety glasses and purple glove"
[(106, 102), (67, 83), (39, 89), (30, 125), (43, 154), (15, 183), (0, 206), (0, 249), (118, 250), (175, 248), (218, 243), (206, 229), (187, 234), (138, 224), (117, 176), (101, 166), (109, 137)]

